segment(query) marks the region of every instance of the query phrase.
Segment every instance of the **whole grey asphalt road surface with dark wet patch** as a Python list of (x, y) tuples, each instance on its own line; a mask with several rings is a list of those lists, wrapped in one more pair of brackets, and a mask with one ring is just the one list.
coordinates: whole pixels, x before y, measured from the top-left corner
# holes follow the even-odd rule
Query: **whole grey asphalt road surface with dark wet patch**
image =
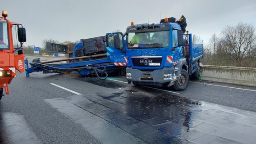
[(255, 87), (191, 81), (173, 91), (137, 87), (124, 77), (38, 72), (18, 73), (9, 88), (0, 102), (3, 144), (256, 142)]

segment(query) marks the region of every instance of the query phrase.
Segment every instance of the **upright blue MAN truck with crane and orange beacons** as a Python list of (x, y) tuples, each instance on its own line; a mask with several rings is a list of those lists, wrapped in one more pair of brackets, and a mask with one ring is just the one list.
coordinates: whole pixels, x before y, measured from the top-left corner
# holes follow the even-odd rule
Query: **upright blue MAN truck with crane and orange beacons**
[[(134, 85), (172, 86), (185, 90), (199, 75), (203, 45), (192, 44), (186, 18), (165, 18), (156, 24), (134, 24), (126, 30), (126, 78)], [(115, 37), (118, 42), (119, 37)], [(119, 47), (116, 43), (115, 47)]]

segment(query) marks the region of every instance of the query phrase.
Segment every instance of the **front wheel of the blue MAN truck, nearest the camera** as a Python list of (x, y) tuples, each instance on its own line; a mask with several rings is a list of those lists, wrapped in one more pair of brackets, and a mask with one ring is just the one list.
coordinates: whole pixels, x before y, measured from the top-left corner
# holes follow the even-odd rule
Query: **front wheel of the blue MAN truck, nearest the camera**
[(174, 90), (185, 90), (189, 81), (189, 75), (185, 69), (181, 70), (181, 76), (178, 77), (178, 80), (174, 83)]

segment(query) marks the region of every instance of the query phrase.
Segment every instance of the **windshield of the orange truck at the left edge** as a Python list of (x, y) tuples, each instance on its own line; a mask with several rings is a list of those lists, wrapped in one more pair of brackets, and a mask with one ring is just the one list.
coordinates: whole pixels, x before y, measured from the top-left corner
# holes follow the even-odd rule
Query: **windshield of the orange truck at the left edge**
[(0, 50), (9, 49), (7, 22), (0, 20)]

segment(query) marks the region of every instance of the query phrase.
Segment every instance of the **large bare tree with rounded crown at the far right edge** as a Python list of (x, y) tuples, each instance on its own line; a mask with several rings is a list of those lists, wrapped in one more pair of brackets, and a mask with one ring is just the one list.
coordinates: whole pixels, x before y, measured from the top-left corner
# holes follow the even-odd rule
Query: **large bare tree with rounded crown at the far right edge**
[(221, 32), (222, 48), (236, 61), (236, 66), (242, 66), (242, 60), (250, 57), (255, 48), (256, 34), (255, 27), (246, 23), (226, 26)]

